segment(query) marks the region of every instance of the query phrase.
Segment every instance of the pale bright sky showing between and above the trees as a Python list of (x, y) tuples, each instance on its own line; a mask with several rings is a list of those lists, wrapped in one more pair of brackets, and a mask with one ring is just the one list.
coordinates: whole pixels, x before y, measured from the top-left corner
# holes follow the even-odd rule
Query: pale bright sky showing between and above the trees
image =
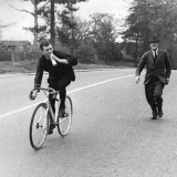
[[(27, 12), (20, 12), (11, 8), (7, 1), (21, 10), (33, 10), (30, 2), (21, 2), (19, 0), (0, 0), (0, 24), (11, 24), (11, 27), (2, 29), (1, 40), (28, 40), (32, 42), (33, 34), (23, 30), (25, 27), (33, 27), (33, 17)], [(128, 13), (131, 0), (88, 0), (81, 2), (76, 15), (81, 19), (88, 19), (90, 14), (95, 12), (111, 13), (117, 18), (124, 18)]]

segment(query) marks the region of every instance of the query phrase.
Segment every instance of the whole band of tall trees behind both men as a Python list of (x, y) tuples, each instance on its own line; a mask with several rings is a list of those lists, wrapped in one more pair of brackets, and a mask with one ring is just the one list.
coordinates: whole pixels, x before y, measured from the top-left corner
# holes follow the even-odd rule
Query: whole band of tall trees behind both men
[[(75, 17), (79, 10), (75, 4), (86, 3), (86, 0), (25, 1), (34, 6), (34, 11), (29, 12), (34, 17), (34, 27), (25, 29), (34, 34), (33, 46), (29, 46), (32, 56), (28, 60), (37, 60), (40, 54), (38, 43), (50, 39), (56, 49), (77, 55), (81, 62), (124, 60), (136, 66), (149, 49), (149, 37), (157, 34), (160, 48), (168, 51), (171, 64), (177, 69), (176, 0), (133, 0), (125, 21), (108, 13), (94, 13), (87, 20)], [(59, 10), (61, 6), (63, 9)], [(39, 18), (44, 20), (43, 25), (39, 24)], [(122, 42), (118, 42), (119, 38)]]

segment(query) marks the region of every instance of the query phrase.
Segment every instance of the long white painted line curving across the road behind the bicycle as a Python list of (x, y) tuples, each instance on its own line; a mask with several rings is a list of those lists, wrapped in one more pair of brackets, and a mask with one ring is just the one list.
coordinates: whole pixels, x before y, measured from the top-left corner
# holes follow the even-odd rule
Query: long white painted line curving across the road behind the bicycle
[[(75, 92), (79, 92), (79, 91), (83, 91), (83, 90), (86, 90), (86, 88), (88, 88), (88, 87), (97, 86), (97, 85), (101, 85), (101, 84), (104, 84), (104, 83), (107, 83), (107, 82), (112, 82), (112, 81), (115, 81), (115, 80), (122, 80), (122, 79), (131, 77), (131, 76), (135, 76), (135, 74), (133, 74), (133, 75), (119, 76), (119, 77), (114, 77), (114, 79), (111, 79), (111, 80), (105, 80), (105, 81), (102, 81), (102, 82), (97, 82), (97, 83), (95, 83), (95, 84), (91, 84), (91, 85), (87, 85), (87, 86), (83, 86), (83, 87), (80, 87), (80, 88), (70, 91), (70, 92), (67, 92), (67, 94), (75, 93)], [(39, 103), (41, 103), (41, 102), (39, 102)], [(33, 106), (37, 106), (39, 103), (35, 103), (35, 104), (32, 104), (32, 105), (30, 105), (30, 106), (25, 106), (25, 107), (22, 107), (22, 108), (19, 108), (19, 110), (9, 112), (9, 113), (7, 113), (7, 114), (2, 114), (2, 115), (0, 115), (0, 118), (10, 116), (10, 115), (13, 115), (13, 114), (15, 114), (15, 113), (25, 111), (25, 110), (31, 108), (31, 107), (33, 107)]]

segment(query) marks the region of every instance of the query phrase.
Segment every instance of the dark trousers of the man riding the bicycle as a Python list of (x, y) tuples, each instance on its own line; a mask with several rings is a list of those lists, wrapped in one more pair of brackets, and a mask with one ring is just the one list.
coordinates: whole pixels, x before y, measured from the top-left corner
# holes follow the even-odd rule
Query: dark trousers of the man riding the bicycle
[[(70, 85), (70, 83), (71, 83), (71, 80), (67, 76), (64, 76), (60, 81), (51, 82), (49, 84), (49, 87), (60, 91), (60, 100), (61, 100), (60, 107), (64, 107), (64, 102), (66, 96), (66, 86)], [(55, 106), (54, 106), (55, 100), (53, 98), (53, 95), (50, 95), (49, 100), (50, 100), (53, 112), (55, 112)]]

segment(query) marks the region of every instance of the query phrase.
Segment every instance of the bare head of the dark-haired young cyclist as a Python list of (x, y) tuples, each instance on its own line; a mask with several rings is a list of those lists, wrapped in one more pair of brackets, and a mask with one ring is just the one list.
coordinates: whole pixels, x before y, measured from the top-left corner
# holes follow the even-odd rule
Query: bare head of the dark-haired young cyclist
[(42, 41), (40, 43), (40, 49), (43, 52), (43, 54), (46, 56), (46, 59), (50, 59), (51, 53), (53, 53), (53, 48), (50, 42)]

